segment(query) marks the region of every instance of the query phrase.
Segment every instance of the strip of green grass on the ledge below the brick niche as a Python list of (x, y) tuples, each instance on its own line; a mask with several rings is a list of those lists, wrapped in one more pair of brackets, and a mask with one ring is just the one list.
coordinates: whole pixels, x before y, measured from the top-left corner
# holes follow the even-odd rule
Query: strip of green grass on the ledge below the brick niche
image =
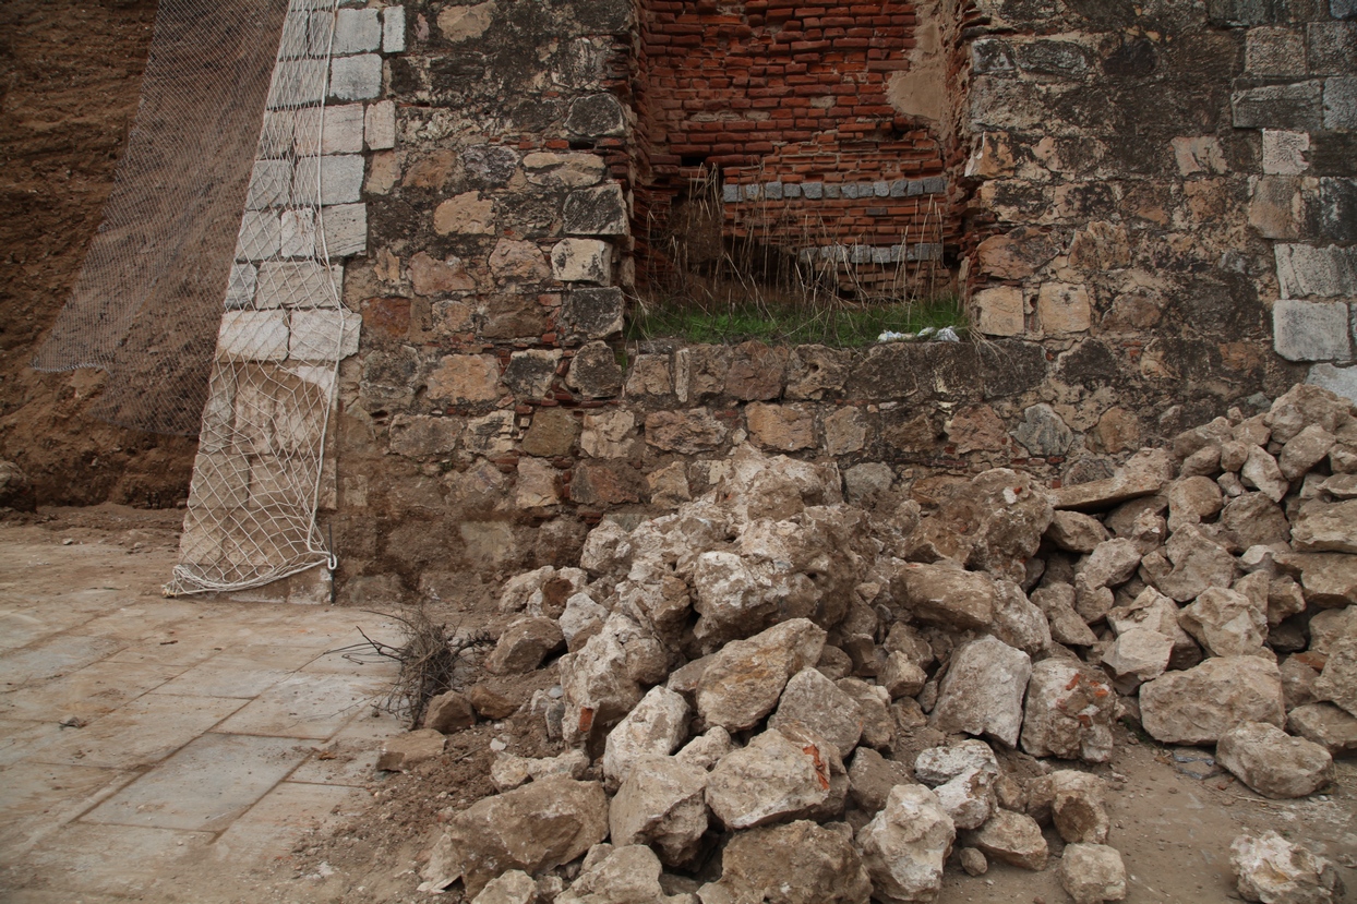
[(887, 330), (917, 333), (924, 327), (946, 326), (965, 337), (965, 312), (953, 296), (833, 308), (753, 301), (708, 308), (696, 304), (638, 304), (627, 322), (627, 338), (677, 338), (714, 345), (760, 339), (768, 345), (818, 343), (852, 349), (875, 343)]

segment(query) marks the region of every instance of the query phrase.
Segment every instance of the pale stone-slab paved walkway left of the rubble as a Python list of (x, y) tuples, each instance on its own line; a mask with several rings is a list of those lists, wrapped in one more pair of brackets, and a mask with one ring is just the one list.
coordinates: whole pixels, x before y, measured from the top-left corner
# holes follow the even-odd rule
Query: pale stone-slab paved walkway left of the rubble
[[(69, 538), (66, 538), (69, 539)], [(351, 812), (395, 673), (327, 653), (389, 620), (167, 600), (172, 550), (0, 528), (0, 900), (176, 900)]]

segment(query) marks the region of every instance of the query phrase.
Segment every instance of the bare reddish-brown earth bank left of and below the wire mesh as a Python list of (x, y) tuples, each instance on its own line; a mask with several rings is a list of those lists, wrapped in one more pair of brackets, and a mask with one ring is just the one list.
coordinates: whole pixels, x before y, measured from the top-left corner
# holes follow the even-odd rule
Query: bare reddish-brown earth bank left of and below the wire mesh
[(172, 508), (197, 441), (87, 413), (103, 373), (28, 366), (99, 227), (137, 110), (155, 0), (0, 3), (0, 459), (39, 504)]

